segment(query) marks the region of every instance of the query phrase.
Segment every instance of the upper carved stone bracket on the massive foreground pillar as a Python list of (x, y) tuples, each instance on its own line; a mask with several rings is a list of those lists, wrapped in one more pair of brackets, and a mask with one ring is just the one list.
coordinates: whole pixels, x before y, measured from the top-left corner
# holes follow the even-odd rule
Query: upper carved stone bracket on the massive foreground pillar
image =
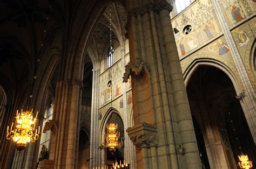
[(134, 65), (132, 62), (128, 62), (127, 65), (125, 65), (125, 73), (123, 76), (123, 82), (127, 82), (128, 79), (130, 78), (130, 75), (139, 75), (143, 70), (149, 75), (150, 77), (150, 72), (149, 69), (146, 67), (146, 64), (144, 61), (138, 59), (138, 64)]

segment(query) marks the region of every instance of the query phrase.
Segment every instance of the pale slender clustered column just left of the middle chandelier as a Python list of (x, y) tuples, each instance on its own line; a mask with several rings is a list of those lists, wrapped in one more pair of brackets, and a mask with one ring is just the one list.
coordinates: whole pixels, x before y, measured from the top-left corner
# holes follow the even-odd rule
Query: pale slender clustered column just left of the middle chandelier
[[(93, 65), (95, 66), (95, 65)], [(97, 66), (96, 66), (97, 67)], [(93, 68), (92, 73), (92, 106), (91, 106), (91, 140), (90, 140), (90, 168), (99, 166), (98, 143), (98, 110), (99, 110), (99, 69)]]

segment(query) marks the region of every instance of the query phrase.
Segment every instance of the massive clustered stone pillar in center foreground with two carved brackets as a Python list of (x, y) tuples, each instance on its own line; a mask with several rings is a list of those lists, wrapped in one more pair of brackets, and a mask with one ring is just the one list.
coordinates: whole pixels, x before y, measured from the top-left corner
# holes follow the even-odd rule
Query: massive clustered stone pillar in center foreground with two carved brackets
[[(183, 74), (166, 1), (129, 4), (130, 46), (126, 74), (132, 75), (137, 168), (200, 168)], [(127, 80), (127, 79), (126, 79)]]

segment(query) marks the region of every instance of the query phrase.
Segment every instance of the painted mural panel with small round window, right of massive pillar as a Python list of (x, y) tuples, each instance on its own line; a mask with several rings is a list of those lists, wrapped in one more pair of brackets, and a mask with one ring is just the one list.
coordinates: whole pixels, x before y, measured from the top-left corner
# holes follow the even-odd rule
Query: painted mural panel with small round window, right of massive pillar
[[(186, 25), (191, 25), (188, 34), (183, 33)], [(175, 34), (180, 57), (206, 44), (221, 34), (221, 28), (214, 13), (211, 1), (199, 0), (182, 15), (172, 19), (172, 26), (179, 30)]]

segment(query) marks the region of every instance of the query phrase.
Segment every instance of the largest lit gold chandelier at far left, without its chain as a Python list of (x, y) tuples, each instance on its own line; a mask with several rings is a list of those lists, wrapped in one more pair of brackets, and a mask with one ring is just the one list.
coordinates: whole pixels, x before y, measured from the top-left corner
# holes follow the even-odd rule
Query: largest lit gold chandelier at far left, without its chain
[(28, 143), (33, 143), (38, 139), (40, 126), (38, 127), (38, 131), (35, 129), (37, 114), (36, 117), (33, 118), (33, 109), (30, 107), (26, 108), (26, 111), (23, 111), (22, 109), (21, 113), (19, 113), (17, 110), (16, 127), (12, 129), (14, 123), (11, 124), (10, 130), (9, 126), (7, 126), (6, 138), (9, 140), (14, 140), (15, 147), (18, 151), (24, 150)]

